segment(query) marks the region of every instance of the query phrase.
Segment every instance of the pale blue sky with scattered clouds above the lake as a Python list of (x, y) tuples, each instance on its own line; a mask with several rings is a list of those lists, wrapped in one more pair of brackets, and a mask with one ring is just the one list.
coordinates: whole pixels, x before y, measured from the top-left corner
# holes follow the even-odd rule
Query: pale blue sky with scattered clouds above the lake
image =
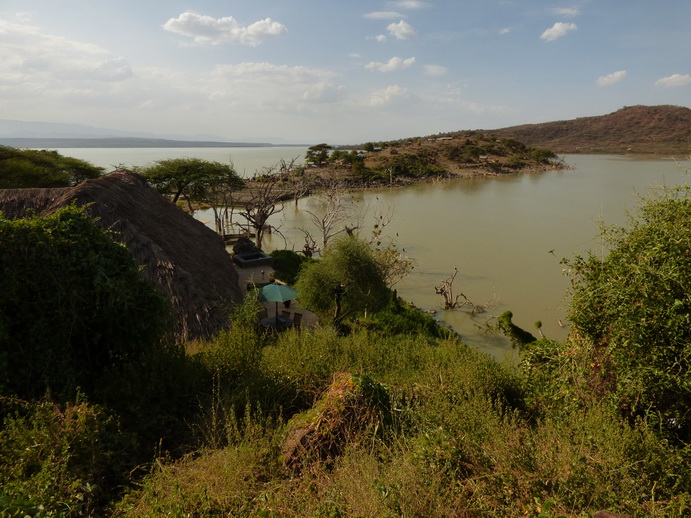
[(0, 119), (357, 144), (691, 107), (689, 0), (0, 0)]

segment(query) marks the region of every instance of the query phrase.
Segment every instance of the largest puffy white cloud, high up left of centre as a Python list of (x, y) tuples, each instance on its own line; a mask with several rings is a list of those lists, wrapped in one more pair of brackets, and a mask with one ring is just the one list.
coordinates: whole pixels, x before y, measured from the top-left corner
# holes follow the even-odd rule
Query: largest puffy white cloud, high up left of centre
[(212, 18), (191, 11), (171, 18), (163, 24), (163, 28), (175, 34), (189, 36), (199, 45), (239, 43), (252, 47), (288, 32), (285, 25), (274, 22), (271, 18), (243, 27), (232, 16)]

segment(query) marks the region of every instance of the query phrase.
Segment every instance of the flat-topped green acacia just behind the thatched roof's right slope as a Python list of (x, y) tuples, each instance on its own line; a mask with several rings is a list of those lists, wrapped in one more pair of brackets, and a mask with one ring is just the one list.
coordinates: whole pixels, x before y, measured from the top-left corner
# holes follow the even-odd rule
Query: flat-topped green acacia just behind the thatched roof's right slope
[(219, 191), (237, 191), (244, 185), (232, 165), (201, 158), (159, 160), (140, 172), (159, 192), (171, 195), (173, 203), (184, 197), (190, 212), (192, 201), (213, 202)]

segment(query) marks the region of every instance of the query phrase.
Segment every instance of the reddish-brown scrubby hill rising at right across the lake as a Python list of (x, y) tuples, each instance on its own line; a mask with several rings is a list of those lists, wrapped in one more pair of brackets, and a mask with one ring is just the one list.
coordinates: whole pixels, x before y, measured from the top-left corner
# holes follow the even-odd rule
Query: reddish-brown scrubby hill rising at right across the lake
[(679, 156), (691, 152), (691, 109), (627, 106), (608, 115), (485, 131), (556, 153)]

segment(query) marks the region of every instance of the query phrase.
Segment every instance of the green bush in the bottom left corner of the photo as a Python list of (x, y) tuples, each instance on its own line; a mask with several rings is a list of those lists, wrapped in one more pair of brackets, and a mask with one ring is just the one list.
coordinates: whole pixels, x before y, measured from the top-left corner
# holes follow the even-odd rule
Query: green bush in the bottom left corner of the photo
[(89, 516), (126, 482), (133, 437), (87, 403), (2, 400), (0, 515)]

